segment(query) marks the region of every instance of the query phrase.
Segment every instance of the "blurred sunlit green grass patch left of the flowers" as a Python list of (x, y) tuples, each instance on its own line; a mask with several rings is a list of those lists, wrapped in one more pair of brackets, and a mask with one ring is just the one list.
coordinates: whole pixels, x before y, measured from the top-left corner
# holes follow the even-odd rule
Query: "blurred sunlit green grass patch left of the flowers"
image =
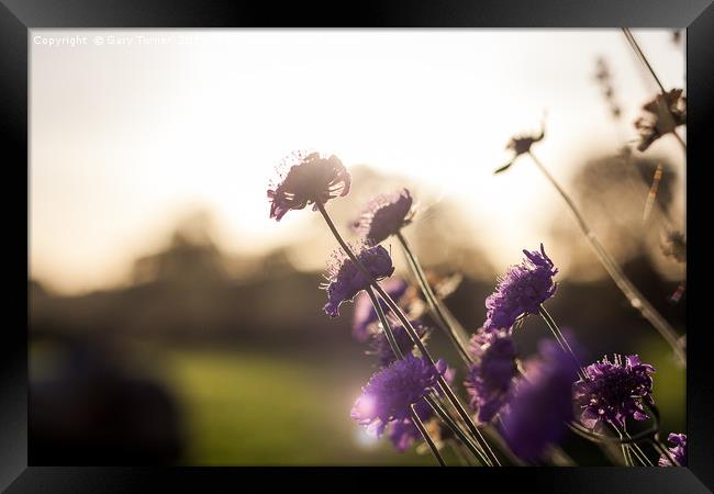
[(397, 452), (387, 439), (360, 446), (364, 433), (349, 418), (355, 377), (331, 364), (171, 350), (163, 368), (183, 413), (183, 464), (435, 464), (428, 453)]

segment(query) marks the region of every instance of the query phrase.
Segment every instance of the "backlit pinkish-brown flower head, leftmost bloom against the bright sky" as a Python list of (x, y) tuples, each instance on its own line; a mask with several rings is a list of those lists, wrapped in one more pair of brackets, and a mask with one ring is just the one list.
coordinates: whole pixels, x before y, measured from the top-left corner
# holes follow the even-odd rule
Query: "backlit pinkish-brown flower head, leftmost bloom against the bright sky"
[(270, 217), (280, 221), (290, 210), (302, 210), (308, 204), (325, 203), (347, 195), (352, 179), (336, 156), (295, 151), (278, 167), (278, 180), (270, 184)]

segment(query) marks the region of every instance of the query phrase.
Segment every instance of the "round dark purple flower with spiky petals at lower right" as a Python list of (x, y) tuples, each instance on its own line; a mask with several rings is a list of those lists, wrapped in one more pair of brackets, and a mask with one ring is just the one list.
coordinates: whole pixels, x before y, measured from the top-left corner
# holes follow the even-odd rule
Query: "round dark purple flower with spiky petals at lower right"
[(614, 362), (605, 357), (585, 368), (585, 379), (574, 386), (574, 400), (580, 408), (580, 422), (590, 429), (600, 429), (606, 423), (624, 427), (628, 417), (644, 420), (647, 414), (644, 403), (652, 404), (652, 378), (655, 368), (642, 363), (639, 357), (615, 356)]

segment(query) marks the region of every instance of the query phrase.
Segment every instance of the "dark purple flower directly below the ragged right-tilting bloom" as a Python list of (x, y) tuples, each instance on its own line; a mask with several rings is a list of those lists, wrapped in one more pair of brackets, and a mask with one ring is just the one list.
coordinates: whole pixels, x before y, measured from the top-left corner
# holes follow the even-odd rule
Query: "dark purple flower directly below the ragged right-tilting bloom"
[(471, 353), (476, 363), (469, 366), (465, 385), (471, 408), (478, 411), (477, 419), (490, 422), (511, 397), (517, 373), (511, 332), (480, 329), (471, 338)]

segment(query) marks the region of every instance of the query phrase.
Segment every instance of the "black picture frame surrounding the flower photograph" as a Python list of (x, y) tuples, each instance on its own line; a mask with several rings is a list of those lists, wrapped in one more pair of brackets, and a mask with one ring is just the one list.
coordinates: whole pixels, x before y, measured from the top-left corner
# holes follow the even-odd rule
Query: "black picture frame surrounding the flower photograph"
[[(706, 204), (701, 198), (710, 187), (704, 173), (711, 165), (704, 154), (712, 128), (714, 98), (714, 7), (710, 0), (364, 0), (331, 4), (275, 1), (187, 1), (187, 0), (2, 0), (0, 4), (0, 102), (2, 134), (7, 138), (4, 171), (10, 171), (5, 190), (27, 189), (27, 82), (30, 32), (40, 27), (679, 27), (687, 29), (688, 79), (688, 314), (702, 321), (706, 311), (706, 271), (704, 258), (711, 247), (705, 227)], [(709, 131), (709, 132), (707, 132)], [(12, 197), (13, 194), (4, 194)], [(19, 199), (18, 199), (19, 200)], [(12, 204), (12, 205), (11, 205)], [(25, 204), (29, 204), (26, 202)], [(5, 202), (5, 211), (18, 205)], [(18, 215), (19, 216), (19, 215)], [(29, 216), (27, 216), (29, 218)], [(5, 271), (23, 284), (25, 273), (22, 232), (9, 238), (12, 261)], [(16, 250), (16, 251), (14, 251)], [(15, 257), (16, 256), (16, 257)], [(10, 257), (8, 257), (10, 259)], [(16, 272), (15, 272), (16, 271)], [(9, 287), (10, 284), (8, 284)], [(246, 470), (223, 469), (130, 469), (130, 468), (52, 468), (27, 464), (27, 296), (9, 289), (4, 307), (12, 317), (7, 326), (0, 360), (2, 397), (0, 405), (0, 489), (8, 492), (132, 492), (149, 485), (204, 492), (207, 482), (243, 482)], [(25, 292), (26, 293), (26, 292)], [(16, 301), (14, 299), (18, 299)], [(23, 306), (23, 302), (25, 305)], [(25, 312), (25, 308), (27, 312)], [(694, 317), (692, 317), (694, 316)], [(24, 325), (24, 327), (23, 327)], [(514, 483), (543, 492), (606, 493), (694, 493), (714, 489), (714, 386), (709, 369), (707, 323), (695, 325), (688, 335), (687, 371), (688, 468), (669, 469), (479, 469), (469, 472), (471, 482), (488, 482), (499, 489)], [(314, 470), (314, 469), (313, 469)], [(360, 479), (355, 469), (339, 469), (346, 476)], [(302, 476), (309, 470), (290, 469)], [(436, 469), (432, 470), (436, 472)], [(464, 475), (465, 469), (431, 473), (437, 481), (444, 475)], [(324, 471), (323, 471), (324, 472)], [(360, 475), (360, 476), (357, 476)], [(476, 475), (476, 476), (473, 476)], [(260, 476), (266, 480), (263, 473)], [(420, 479), (420, 475), (403, 475)], [(465, 479), (467, 480), (467, 479)], [(402, 481), (400, 481), (402, 482)], [(481, 485), (481, 484), (479, 484)], [(486, 484), (483, 484), (486, 485)], [(476, 485), (473, 489), (479, 489)]]

